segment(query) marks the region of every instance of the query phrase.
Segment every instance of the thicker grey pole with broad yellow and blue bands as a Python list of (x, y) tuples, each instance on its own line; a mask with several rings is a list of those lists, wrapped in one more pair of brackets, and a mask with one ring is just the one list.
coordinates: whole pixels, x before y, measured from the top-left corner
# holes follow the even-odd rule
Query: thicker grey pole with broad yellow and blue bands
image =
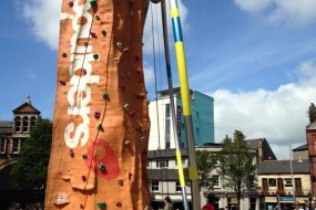
[(187, 150), (188, 150), (188, 160), (190, 160), (188, 174), (191, 179), (192, 207), (193, 210), (200, 210), (201, 209), (200, 187), (198, 187), (197, 166), (195, 159), (195, 143), (193, 135), (192, 113), (191, 113), (191, 97), (190, 97), (188, 80), (186, 72), (184, 43), (183, 43), (180, 13), (176, 0), (170, 0), (170, 9), (171, 9), (175, 55), (177, 62), (177, 72), (179, 72), (179, 80), (181, 87), (182, 107), (183, 107), (183, 116), (185, 123), (185, 133), (186, 133)]

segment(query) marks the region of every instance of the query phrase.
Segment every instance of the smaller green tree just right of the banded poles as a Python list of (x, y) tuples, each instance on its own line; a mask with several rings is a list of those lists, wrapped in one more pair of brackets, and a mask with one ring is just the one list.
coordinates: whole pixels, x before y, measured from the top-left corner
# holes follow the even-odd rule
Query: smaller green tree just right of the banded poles
[(196, 165), (198, 175), (198, 187), (211, 189), (213, 187), (213, 178), (211, 171), (215, 168), (215, 157), (207, 150), (196, 151)]

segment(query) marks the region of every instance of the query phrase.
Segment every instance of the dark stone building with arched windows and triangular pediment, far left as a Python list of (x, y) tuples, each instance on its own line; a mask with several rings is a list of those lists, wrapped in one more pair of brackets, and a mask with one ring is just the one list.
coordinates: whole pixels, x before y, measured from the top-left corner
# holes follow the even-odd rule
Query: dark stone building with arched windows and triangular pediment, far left
[(3, 199), (0, 209), (6, 198), (12, 199), (11, 197), (17, 195), (12, 191), (14, 186), (10, 171), (18, 160), (21, 145), (30, 136), (30, 130), (35, 126), (41, 114), (32, 105), (30, 96), (12, 113), (13, 120), (0, 120), (0, 197)]

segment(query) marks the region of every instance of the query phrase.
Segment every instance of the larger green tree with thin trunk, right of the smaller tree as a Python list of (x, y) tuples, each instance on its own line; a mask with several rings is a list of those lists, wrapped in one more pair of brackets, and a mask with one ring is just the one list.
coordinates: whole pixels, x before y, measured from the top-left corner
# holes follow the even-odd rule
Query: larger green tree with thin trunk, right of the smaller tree
[(242, 191), (256, 188), (257, 166), (253, 162), (254, 155), (249, 151), (242, 132), (235, 130), (234, 140), (226, 136), (222, 144), (223, 149), (216, 154), (217, 172), (223, 180), (223, 186), (236, 192), (239, 206)]

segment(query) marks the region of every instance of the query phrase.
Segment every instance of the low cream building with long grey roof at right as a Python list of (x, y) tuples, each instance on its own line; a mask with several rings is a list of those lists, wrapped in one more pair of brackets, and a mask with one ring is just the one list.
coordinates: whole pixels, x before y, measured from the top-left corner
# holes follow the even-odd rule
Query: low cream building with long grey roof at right
[(262, 209), (293, 209), (310, 202), (309, 160), (268, 160), (258, 165), (258, 185), (265, 206)]

